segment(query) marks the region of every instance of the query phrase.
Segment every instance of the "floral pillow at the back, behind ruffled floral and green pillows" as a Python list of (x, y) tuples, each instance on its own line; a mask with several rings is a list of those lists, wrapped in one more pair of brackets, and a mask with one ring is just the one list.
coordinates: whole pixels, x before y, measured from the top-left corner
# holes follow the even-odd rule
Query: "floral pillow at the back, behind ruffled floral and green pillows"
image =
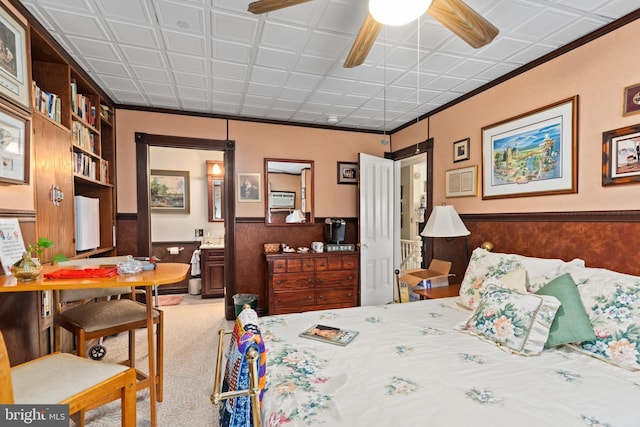
[(535, 292), (551, 279), (559, 276), (567, 265), (584, 266), (584, 261), (574, 260), (567, 263), (561, 259), (525, 257), (476, 248), (471, 254), (469, 266), (460, 285), (458, 303), (467, 308), (475, 308), (480, 301), (481, 290), (486, 285), (487, 279), (492, 277), (500, 279), (520, 267), (524, 267), (527, 272), (527, 291)]

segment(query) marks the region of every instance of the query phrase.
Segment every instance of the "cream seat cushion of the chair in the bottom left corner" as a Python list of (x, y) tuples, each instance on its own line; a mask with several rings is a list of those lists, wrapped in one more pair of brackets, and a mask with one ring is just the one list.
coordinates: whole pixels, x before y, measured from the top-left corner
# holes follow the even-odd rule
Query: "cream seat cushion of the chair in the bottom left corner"
[(127, 369), (69, 353), (35, 359), (11, 369), (15, 403), (59, 403)]

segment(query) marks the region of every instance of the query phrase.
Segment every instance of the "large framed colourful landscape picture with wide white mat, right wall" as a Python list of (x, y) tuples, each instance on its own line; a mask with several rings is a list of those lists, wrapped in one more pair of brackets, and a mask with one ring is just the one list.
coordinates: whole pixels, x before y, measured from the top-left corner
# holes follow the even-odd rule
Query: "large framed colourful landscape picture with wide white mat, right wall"
[(578, 96), (482, 128), (482, 198), (576, 193)]

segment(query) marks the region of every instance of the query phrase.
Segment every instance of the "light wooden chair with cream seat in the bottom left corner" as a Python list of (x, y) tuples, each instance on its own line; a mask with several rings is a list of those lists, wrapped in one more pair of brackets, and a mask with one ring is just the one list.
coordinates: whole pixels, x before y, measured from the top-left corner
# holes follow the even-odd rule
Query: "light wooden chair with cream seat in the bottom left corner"
[(76, 425), (84, 412), (120, 399), (122, 426), (136, 425), (136, 371), (68, 353), (53, 353), (10, 367), (0, 332), (0, 403), (69, 405)]

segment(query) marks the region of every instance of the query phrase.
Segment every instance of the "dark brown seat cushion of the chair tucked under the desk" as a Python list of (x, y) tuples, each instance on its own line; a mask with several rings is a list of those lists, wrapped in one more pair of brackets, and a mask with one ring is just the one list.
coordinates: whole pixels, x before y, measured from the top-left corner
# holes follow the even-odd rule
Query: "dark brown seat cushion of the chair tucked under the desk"
[[(153, 309), (153, 318), (159, 313)], [(97, 301), (65, 310), (58, 317), (77, 325), (82, 325), (86, 332), (94, 332), (114, 326), (126, 325), (131, 322), (145, 321), (147, 307), (144, 304), (130, 300), (118, 299)]]

